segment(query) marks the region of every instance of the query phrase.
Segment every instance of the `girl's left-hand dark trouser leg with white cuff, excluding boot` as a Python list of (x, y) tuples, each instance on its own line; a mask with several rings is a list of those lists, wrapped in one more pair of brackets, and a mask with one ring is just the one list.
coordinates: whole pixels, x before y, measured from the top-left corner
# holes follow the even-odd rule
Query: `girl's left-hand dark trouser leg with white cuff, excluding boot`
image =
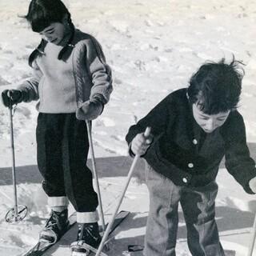
[[(38, 114), (36, 130), (38, 146), (38, 169), (44, 178), (43, 190), (49, 196), (52, 207), (67, 206), (62, 169), (62, 116)], [(60, 210), (58, 210), (60, 211)]]

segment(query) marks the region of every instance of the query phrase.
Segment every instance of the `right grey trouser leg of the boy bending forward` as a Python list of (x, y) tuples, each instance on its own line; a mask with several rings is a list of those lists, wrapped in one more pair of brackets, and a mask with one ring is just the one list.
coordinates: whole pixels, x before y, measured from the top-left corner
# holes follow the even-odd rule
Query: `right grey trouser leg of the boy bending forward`
[(211, 182), (182, 192), (181, 205), (186, 220), (187, 239), (193, 256), (225, 256), (215, 222), (218, 185)]

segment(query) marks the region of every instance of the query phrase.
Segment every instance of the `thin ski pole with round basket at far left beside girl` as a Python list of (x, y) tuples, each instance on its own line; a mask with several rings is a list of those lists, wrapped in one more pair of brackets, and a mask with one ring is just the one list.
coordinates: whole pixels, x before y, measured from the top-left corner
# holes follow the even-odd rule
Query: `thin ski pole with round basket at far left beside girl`
[(12, 158), (12, 177), (14, 186), (14, 208), (10, 209), (6, 214), (6, 222), (18, 222), (26, 217), (27, 207), (18, 206), (17, 199), (17, 187), (16, 187), (16, 169), (15, 169), (15, 153), (14, 153), (14, 123), (13, 123), (13, 105), (10, 101), (10, 147), (11, 147), (11, 158)]

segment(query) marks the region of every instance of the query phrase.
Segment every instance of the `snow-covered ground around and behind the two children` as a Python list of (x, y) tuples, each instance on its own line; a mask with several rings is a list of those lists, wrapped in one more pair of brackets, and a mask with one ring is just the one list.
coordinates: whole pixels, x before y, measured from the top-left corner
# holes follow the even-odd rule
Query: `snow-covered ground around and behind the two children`
[[(34, 34), (18, 14), (26, 14), (30, 1), (0, 1), (0, 91), (30, 76), (30, 52), (38, 45)], [(126, 181), (130, 159), (125, 135), (136, 120), (171, 91), (187, 85), (190, 75), (206, 60), (231, 59), (246, 66), (239, 108), (246, 122), (251, 154), (256, 156), (254, 24), (252, 0), (65, 0), (75, 26), (101, 42), (113, 69), (114, 93), (104, 113), (93, 123), (103, 209), (110, 218)], [(13, 206), (10, 117), (0, 104), (0, 255), (16, 256), (32, 246), (49, 208), (36, 166), (35, 103), (22, 103), (14, 114), (14, 142), (18, 178), (18, 202), (28, 206), (23, 222), (8, 224), (6, 212)], [(136, 176), (143, 176), (143, 164)], [(234, 178), (222, 169), (218, 175), (217, 222), (222, 245), (244, 255), (249, 246), (256, 203)], [(111, 255), (122, 255), (127, 245), (142, 245), (148, 213), (148, 192), (133, 178), (122, 209), (132, 212), (116, 237)], [(72, 207), (70, 207), (70, 213)], [(135, 255), (135, 254), (134, 254)], [(140, 254), (141, 255), (141, 254)], [(180, 214), (177, 255), (190, 255), (186, 229)], [(256, 255), (254, 253), (254, 255)]]

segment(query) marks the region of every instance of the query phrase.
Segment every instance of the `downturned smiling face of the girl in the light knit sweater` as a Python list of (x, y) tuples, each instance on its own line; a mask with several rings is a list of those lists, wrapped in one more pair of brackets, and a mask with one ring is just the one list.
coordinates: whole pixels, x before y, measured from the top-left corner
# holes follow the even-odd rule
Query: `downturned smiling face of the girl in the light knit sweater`
[(69, 34), (70, 30), (67, 29), (61, 22), (50, 23), (44, 30), (39, 32), (43, 39), (47, 42), (54, 43), (55, 45), (62, 45), (63, 39)]

